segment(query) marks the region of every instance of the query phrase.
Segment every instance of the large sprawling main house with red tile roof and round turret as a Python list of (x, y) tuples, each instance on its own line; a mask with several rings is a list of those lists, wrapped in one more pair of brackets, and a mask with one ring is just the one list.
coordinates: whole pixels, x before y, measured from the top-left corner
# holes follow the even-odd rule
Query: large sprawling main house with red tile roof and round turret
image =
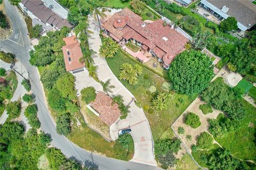
[(143, 52), (149, 52), (163, 63), (165, 69), (173, 58), (185, 50), (188, 39), (159, 19), (145, 23), (142, 18), (124, 8), (102, 23), (105, 33), (120, 44), (128, 41), (138, 44)]

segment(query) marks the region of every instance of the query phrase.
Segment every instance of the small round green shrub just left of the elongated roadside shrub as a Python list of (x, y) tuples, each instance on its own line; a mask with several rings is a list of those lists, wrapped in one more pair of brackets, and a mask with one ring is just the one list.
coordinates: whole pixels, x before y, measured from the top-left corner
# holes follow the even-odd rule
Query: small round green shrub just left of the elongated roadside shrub
[(20, 116), (21, 111), (21, 103), (20, 101), (10, 101), (9, 104), (5, 107), (7, 114), (9, 114), (9, 118), (17, 118)]

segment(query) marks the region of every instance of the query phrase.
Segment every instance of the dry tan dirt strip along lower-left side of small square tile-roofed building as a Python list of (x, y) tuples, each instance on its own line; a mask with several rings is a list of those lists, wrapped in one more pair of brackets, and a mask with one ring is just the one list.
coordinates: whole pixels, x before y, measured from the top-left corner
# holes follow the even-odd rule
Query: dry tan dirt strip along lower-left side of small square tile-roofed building
[(108, 125), (102, 122), (97, 115), (91, 112), (90, 109), (86, 107), (85, 102), (82, 101), (81, 98), (79, 98), (79, 100), (81, 103), (81, 112), (84, 116), (86, 123), (91, 128), (100, 132), (100, 134), (102, 134), (105, 138), (107, 138), (108, 140), (111, 140)]

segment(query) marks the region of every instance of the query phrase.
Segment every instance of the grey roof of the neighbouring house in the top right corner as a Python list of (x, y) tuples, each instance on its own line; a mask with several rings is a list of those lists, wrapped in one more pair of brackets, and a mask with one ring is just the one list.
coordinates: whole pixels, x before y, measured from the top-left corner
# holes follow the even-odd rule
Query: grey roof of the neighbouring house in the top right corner
[(207, 2), (227, 15), (235, 17), (239, 23), (249, 29), (256, 23), (256, 5), (249, 0), (207, 0)]

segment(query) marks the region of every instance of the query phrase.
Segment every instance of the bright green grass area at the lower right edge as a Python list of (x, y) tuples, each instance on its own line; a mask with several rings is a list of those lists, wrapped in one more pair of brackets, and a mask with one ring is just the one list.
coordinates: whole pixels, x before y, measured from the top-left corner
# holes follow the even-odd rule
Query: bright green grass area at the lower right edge
[(222, 138), (215, 138), (215, 140), (236, 157), (244, 160), (253, 160), (255, 162), (256, 108), (244, 99), (241, 99), (241, 102), (245, 109), (245, 115), (242, 120), (239, 120), (239, 128), (234, 132), (226, 133)]

